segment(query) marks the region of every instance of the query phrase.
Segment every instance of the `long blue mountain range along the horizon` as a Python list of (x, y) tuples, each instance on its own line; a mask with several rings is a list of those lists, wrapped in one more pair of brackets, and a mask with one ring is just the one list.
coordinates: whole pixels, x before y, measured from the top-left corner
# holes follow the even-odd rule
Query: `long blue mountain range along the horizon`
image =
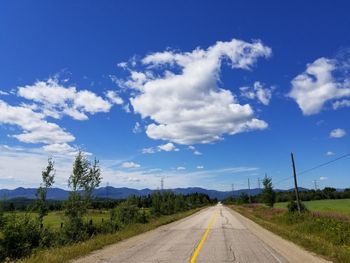
[[(299, 191), (307, 191), (306, 188), (299, 187)], [(18, 198), (18, 197), (24, 197), (29, 199), (35, 199), (36, 198), (36, 188), (23, 188), (19, 187), (13, 190), (8, 189), (0, 189), (0, 198), (6, 198), (6, 199), (12, 199), (12, 198)], [(125, 199), (129, 195), (136, 195), (136, 196), (145, 196), (149, 195), (155, 190), (151, 189), (132, 189), (127, 187), (121, 187), (121, 188), (115, 188), (112, 186), (107, 187), (101, 187), (96, 189), (93, 192), (93, 195), (95, 197), (99, 198), (113, 198), (113, 199)], [(236, 190), (234, 192), (232, 191), (217, 191), (217, 190), (208, 190), (200, 187), (189, 187), (189, 188), (175, 188), (175, 189), (166, 189), (166, 191), (173, 191), (177, 194), (191, 194), (191, 193), (203, 193), (207, 194), (210, 198), (217, 198), (219, 200), (223, 200), (229, 196), (239, 196), (241, 193), (249, 193), (248, 189), (240, 189)], [(294, 191), (294, 189), (289, 190), (277, 190), (277, 191)], [(261, 189), (254, 188), (250, 190), (251, 195), (258, 195), (261, 192)], [(48, 190), (47, 197), (48, 199), (52, 200), (65, 200), (67, 199), (69, 194), (69, 191), (63, 190), (60, 188), (51, 188)]]

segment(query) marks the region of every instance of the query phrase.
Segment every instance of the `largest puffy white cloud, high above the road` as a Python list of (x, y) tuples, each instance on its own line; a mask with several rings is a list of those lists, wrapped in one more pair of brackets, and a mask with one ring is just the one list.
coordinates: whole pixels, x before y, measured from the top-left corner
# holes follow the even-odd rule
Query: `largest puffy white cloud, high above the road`
[[(141, 70), (132, 63), (130, 77), (119, 84), (133, 90), (134, 112), (151, 120), (146, 127), (150, 138), (178, 144), (211, 143), (225, 134), (267, 128), (249, 104), (239, 104), (218, 83), (222, 64), (249, 70), (259, 57), (270, 55), (271, 49), (259, 41), (237, 39), (191, 52), (156, 52), (141, 59)], [(265, 95), (259, 96), (267, 101)]]

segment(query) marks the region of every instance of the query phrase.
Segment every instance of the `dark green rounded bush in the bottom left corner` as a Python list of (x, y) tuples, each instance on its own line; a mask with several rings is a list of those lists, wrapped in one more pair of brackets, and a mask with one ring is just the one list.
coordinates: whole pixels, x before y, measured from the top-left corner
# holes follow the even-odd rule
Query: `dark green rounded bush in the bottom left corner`
[(1, 260), (18, 259), (31, 254), (40, 245), (41, 230), (38, 220), (29, 215), (11, 215), (6, 221), (1, 240)]

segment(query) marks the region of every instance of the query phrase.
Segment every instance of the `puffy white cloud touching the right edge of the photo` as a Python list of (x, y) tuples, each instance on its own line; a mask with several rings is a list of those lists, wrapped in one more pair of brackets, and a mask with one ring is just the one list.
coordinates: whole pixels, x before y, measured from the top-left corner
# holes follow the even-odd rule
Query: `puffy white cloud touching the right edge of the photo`
[[(304, 115), (317, 114), (326, 102), (350, 96), (350, 79), (336, 79), (332, 74), (338, 70), (337, 65), (338, 61), (322, 57), (308, 64), (306, 71), (292, 80), (288, 96), (298, 103)], [(333, 107), (344, 103), (336, 101)]]

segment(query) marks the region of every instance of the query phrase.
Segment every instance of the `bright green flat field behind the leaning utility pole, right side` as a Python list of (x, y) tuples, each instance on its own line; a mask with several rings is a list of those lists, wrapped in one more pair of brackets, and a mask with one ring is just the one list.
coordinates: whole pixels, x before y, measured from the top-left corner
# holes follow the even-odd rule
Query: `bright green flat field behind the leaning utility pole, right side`
[[(336, 212), (350, 215), (350, 199), (315, 200), (303, 202), (307, 209), (317, 212)], [(287, 208), (288, 202), (276, 203), (276, 208)]]

